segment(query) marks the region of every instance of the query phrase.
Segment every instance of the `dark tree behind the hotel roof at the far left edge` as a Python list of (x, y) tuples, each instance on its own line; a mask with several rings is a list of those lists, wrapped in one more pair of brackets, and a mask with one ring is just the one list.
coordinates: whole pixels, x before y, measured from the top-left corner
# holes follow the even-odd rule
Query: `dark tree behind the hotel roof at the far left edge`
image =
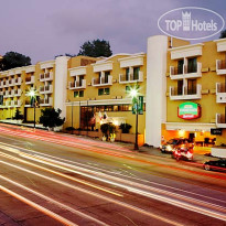
[(2, 61), (0, 62), (0, 69), (7, 71), (14, 67), (29, 66), (29, 65), (31, 65), (31, 58), (29, 56), (25, 56), (17, 52), (7, 52), (3, 55)]

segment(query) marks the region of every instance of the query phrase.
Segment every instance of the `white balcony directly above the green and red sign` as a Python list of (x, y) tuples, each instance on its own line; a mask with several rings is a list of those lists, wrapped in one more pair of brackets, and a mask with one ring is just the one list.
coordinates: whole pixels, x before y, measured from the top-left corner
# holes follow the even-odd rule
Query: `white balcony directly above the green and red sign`
[(201, 99), (202, 98), (202, 85), (197, 84), (196, 88), (187, 89), (183, 86), (182, 92), (179, 93), (175, 87), (170, 87), (170, 99), (171, 100), (181, 100), (181, 99)]

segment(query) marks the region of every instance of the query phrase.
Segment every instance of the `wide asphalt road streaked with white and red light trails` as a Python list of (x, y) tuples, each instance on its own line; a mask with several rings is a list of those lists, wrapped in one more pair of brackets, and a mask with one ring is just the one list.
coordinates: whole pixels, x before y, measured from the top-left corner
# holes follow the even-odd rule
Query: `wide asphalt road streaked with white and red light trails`
[(0, 126), (1, 225), (226, 225), (226, 173)]

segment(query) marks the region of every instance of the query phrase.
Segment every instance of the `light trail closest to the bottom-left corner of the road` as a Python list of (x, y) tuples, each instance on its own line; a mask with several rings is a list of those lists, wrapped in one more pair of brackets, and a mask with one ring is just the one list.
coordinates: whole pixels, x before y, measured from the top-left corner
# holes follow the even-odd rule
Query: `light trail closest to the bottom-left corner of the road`
[(71, 222), (71, 220), (68, 220), (68, 219), (66, 219), (66, 218), (60, 216), (58, 214), (55, 214), (55, 213), (53, 213), (52, 211), (49, 211), (47, 208), (45, 208), (45, 207), (43, 207), (43, 206), (41, 206), (41, 205), (39, 205), (39, 204), (36, 204), (36, 203), (34, 203), (34, 202), (32, 202), (32, 201), (25, 198), (25, 197), (23, 197), (22, 195), (17, 194), (15, 192), (12, 192), (11, 190), (8, 190), (7, 187), (4, 187), (4, 186), (2, 186), (2, 185), (0, 185), (0, 190), (3, 191), (3, 192), (7, 193), (7, 194), (13, 196), (14, 198), (17, 198), (17, 200), (19, 200), (19, 201), (25, 203), (26, 205), (29, 205), (29, 206), (31, 206), (31, 207), (33, 207), (33, 208), (35, 208), (35, 209), (42, 212), (42, 213), (45, 214), (46, 216), (50, 216), (50, 217), (52, 217), (53, 219), (55, 219), (55, 220), (62, 223), (63, 225), (67, 225), (67, 226), (68, 226), (68, 225), (69, 225), (69, 226), (78, 226), (78, 225), (74, 224), (73, 222)]

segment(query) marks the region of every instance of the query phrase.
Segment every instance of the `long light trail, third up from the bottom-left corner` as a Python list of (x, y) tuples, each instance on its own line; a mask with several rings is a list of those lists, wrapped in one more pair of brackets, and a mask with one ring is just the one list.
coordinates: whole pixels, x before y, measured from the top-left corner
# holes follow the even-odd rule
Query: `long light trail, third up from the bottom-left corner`
[(80, 187), (76, 187), (76, 186), (74, 186), (74, 185), (72, 185), (72, 184), (68, 184), (68, 183), (66, 183), (66, 182), (62, 182), (62, 181), (60, 181), (60, 180), (57, 180), (57, 179), (53, 179), (53, 177), (50, 177), (50, 176), (46, 176), (46, 175), (42, 175), (42, 174), (40, 174), (40, 173), (36, 173), (36, 172), (30, 171), (30, 170), (28, 170), (28, 169), (24, 169), (24, 168), (21, 168), (21, 166), (11, 164), (11, 163), (9, 163), (9, 162), (4, 162), (4, 161), (2, 161), (2, 160), (0, 160), (0, 162), (1, 162), (2, 164), (6, 164), (6, 165), (9, 165), (9, 166), (15, 168), (15, 169), (21, 170), (21, 171), (23, 171), (23, 172), (26, 172), (26, 173), (30, 173), (30, 174), (33, 174), (33, 175), (43, 177), (43, 179), (45, 179), (45, 180), (52, 181), (52, 182), (54, 182), (54, 183), (57, 183), (57, 184), (61, 184), (61, 185), (64, 185), (64, 186), (67, 186), (67, 187), (73, 189), (73, 190), (75, 190), (75, 191), (78, 191), (78, 192), (82, 192), (82, 193), (86, 193), (86, 194), (92, 195), (92, 196), (95, 196), (95, 197), (97, 197), (97, 198), (101, 198), (101, 200), (104, 200), (104, 201), (107, 201), (107, 202), (117, 204), (117, 205), (119, 205), (119, 206), (129, 208), (129, 209), (131, 209), (131, 211), (134, 211), (134, 212), (137, 212), (137, 213), (139, 213), (139, 214), (146, 215), (146, 216), (148, 216), (148, 217), (152, 217), (152, 218), (159, 219), (159, 220), (161, 220), (161, 222), (164, 222), (164, 223), (168, 223), (168, 224), (171, 224), (171, 225), (174, 225), (174, 226), (183, 226), (183, 224), (180, 224), (180, 223), (176, 223), (176, 222), (174, 222), (174, 220), (171, 220), (171, 219), (161, 217), (161, 216), (159, 216), (159, 215), (157, 215), (157, 214), (149, 213), (149, 212), (147, 212), (147, 211), (144, 211), (144, 209), (142, 209), (142, 208), (132, 206), (132, 205), (127, 204), (127, 203), (122, 203), (122, 202), (117, 201), (117, 200), (115, 200), (115, 198), (110, 198), (110, 197), (107, 197), (107, 196), (97, 194), (97, 193), (95, 193), (95, 192), (90, 192), (90, 191), (87, 191), (87, 190), (84, 190), (84, 189), (80, 189)]

